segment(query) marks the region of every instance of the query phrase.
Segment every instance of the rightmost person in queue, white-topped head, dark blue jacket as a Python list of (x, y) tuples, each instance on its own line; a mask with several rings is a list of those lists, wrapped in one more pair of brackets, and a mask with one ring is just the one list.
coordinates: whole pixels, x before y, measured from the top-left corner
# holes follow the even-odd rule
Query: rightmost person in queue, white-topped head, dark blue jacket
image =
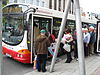
[(89, 27), (89, 31), (90, 31), (90, 42), (89, 42), (89, 55), (93, 55), (94, 54), (94, 43), (96, 41), (96, 34), (94, 32), (94, 27), (90, 26)]

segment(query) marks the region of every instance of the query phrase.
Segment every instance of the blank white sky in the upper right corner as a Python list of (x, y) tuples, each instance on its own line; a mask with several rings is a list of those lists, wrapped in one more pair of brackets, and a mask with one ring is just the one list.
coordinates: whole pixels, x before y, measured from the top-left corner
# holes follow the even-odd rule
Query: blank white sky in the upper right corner
[(79, 0), (83, 11), (100, 14), (100, 0)]

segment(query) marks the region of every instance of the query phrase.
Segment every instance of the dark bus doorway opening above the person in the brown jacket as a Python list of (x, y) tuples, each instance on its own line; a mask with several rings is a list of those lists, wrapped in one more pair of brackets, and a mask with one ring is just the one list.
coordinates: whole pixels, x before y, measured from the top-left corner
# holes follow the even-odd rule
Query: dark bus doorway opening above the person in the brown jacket
[[(52, 18), (49, 17), (37, 17), (34, 16), (34, 22), (33, 22), (33, 30), (34, 30), (34, 41), (36, 40), (36, 38), (38, 37), (38, 35), (40, 34), (40, 30), (41, 29), (45, 29), (47, 32), (52, 32)], [(47, 34), (48, 36), (48, 34)], [(35, 44), (35, 42), (34, 42)]]

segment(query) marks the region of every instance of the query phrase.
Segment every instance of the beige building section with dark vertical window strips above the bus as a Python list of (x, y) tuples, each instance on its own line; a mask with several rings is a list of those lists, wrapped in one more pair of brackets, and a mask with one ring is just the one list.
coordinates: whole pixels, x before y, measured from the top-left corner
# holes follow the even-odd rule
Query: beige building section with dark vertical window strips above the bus
[[(45, 0), (50, 9), (64, 12), (67, 0)], [(69, 13), (74, 14), (74, 3), (71, 2)]]

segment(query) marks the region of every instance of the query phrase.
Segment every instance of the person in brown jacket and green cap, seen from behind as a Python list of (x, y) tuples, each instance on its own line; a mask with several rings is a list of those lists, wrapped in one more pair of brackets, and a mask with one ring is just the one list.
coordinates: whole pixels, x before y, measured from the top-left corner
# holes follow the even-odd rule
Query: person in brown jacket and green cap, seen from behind
[(40, 35), (37, 37), (35, 42), (35, 52), (37, 55), (38, 62), (38, 72), (42, 70), (42, 72), (46, 72), (46, 59), (48, 54), (48, 47), (50, 46), (50, 41), (48, 37), (45, 35), (46, 31), (42, 29), (40, 31)]

